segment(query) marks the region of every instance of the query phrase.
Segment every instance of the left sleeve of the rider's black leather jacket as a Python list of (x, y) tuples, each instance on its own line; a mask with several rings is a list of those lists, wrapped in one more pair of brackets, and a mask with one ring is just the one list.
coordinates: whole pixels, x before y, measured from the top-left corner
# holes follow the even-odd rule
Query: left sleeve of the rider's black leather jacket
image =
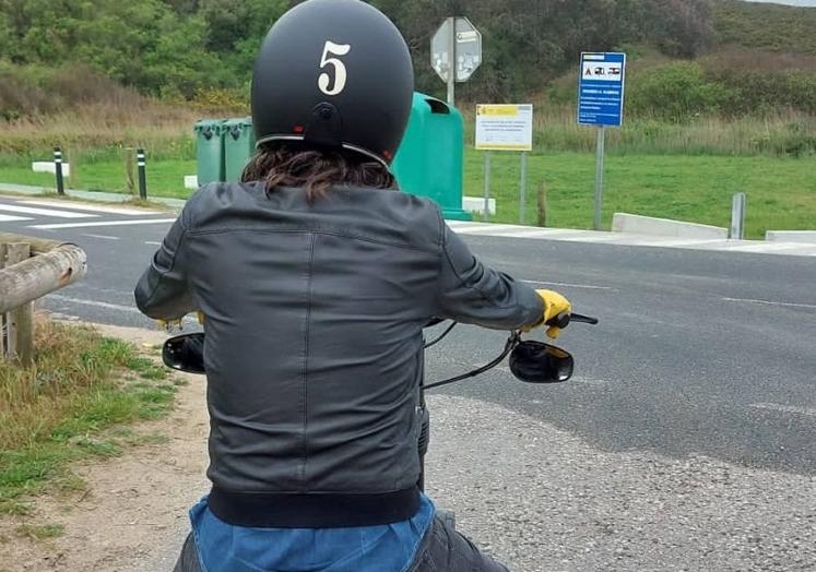
[(196, 310), (187, 275), (187, 233), (182, 212), (137, 284), (137, 306), (150, 318), (175, 320)]

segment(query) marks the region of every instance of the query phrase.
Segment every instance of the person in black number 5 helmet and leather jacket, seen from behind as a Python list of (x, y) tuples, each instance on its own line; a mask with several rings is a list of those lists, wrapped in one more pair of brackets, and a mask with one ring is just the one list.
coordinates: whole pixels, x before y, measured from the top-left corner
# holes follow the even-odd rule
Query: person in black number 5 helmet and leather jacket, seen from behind
[(507, 570), (418, 490), (422, 331), (529, 329), (570, 305), (395, 191), (413, 79), (371, 5), (287, 12), (257, 59), (244, 182), (191, 196), (135, 288), (152, 318), (206, 317), (213, 486), (176, 571)]

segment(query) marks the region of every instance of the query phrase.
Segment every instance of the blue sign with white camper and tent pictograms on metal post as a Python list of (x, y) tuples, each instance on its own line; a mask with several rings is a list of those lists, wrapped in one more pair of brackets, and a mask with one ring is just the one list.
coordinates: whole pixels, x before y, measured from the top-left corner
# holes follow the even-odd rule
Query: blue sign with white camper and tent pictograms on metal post
[(624, 116), (626, 53), (581, 53), (578, 80), (578, 123), (598, 127), (595, 205), (592, 227), (603, 224), (603, 174), (607, 127), (620, 127)]

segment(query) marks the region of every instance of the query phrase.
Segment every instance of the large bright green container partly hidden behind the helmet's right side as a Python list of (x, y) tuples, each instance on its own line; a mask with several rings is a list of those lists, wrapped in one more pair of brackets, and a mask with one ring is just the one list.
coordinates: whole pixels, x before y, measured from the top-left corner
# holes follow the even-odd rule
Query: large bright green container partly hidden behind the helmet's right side
[(415, 93), (407, 131), (391, 170), (400, 189), (433, 199), (446, 218), (472, 218), (462, 210), (464, 121), (456, 107)]

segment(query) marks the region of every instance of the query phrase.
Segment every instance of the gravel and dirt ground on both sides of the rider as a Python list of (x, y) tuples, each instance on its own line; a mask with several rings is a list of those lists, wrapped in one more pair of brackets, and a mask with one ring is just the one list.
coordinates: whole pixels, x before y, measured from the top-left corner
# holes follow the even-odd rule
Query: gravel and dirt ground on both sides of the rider
[[(103, 326), (156, 343), (159, 332)], [(78, 468), (88, 489), (43, 497), (25, 522), (61, 524), (50, 540), (20, 538), (0, 519), (0, 572), (162, 572), (206, 491), (203, 379), (176, 410), (143, 424), (169, 437)], [(460, 529), (513, 571), (816, 570), (816, 477), (705, 456), (608, 453), (500, 406), (429, 397), (428, 489)]]

